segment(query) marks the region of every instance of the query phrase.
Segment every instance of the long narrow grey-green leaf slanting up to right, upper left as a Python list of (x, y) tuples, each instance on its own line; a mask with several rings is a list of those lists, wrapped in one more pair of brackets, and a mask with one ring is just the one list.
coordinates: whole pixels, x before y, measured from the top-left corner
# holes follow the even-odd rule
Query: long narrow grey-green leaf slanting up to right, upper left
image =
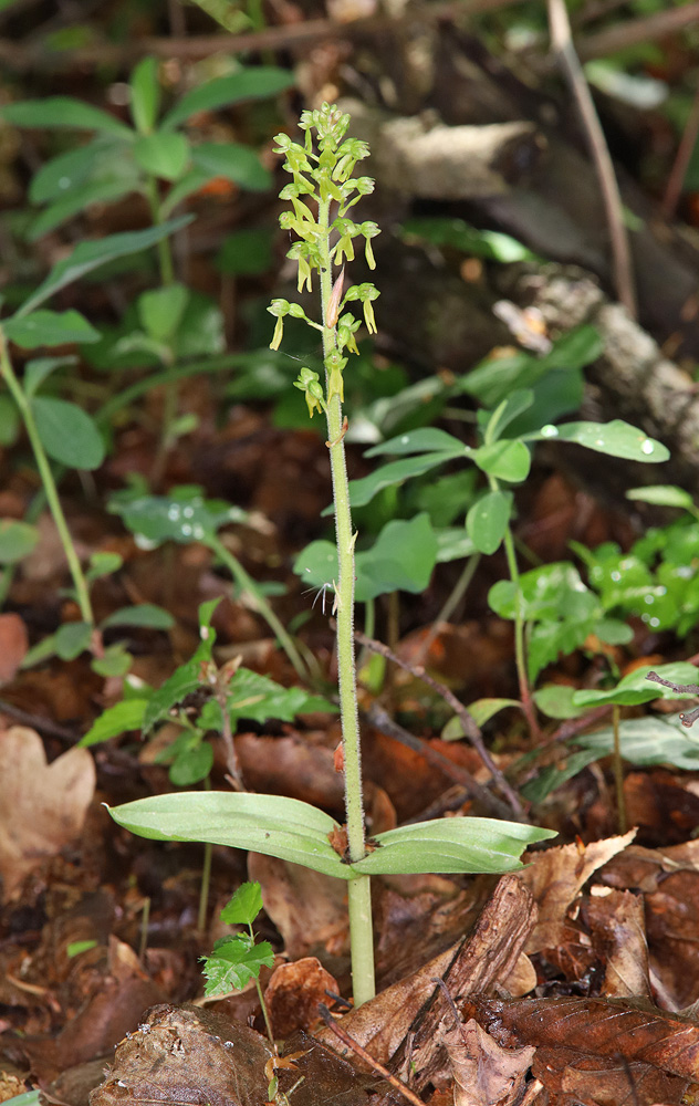
[(169, 222), (163, 222), (157, 227), (148, 227), (146, 230), (128, 230), (121, 234), (108, 234), (106, 238), (94, 241), (81, 242), (67, 258), (59, 261), (42, 284), (39, 285), (33, 295), (24, 301), (22, 306), (14, 313), (13, 319), (20, 315), (28, 315), (40, 303), (44, 303), (60, 289), (80, 280), (85, 273), (98, 269), (117, 258), (128, 257), (132, 253), (139, 253), (142, 250), (155, 246), (157, 242), (175, 234), (182, 227), (191, 222), (194, 216), (180, 216)]

